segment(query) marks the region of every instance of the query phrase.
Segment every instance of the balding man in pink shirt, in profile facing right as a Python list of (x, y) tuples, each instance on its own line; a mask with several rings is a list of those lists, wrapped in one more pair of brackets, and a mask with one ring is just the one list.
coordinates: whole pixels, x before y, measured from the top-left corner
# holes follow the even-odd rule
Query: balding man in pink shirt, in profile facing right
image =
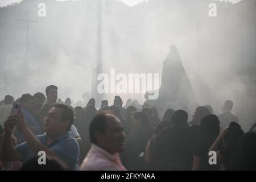
[(97, 114), (89, 127), (92, 146), (81, 164), (81, 171), (124, 171), (118, 152), (124, 150), (121, 122), (109, 113)]

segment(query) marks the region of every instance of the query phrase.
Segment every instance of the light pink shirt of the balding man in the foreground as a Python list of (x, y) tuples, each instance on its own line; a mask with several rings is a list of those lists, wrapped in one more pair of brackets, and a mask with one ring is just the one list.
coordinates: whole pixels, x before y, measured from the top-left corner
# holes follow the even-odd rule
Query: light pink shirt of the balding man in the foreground
[(81, 171), (126, 171), (120, 160), (119, 154), (109, 152), (92, 144), (90, 151), (82, 162)]

